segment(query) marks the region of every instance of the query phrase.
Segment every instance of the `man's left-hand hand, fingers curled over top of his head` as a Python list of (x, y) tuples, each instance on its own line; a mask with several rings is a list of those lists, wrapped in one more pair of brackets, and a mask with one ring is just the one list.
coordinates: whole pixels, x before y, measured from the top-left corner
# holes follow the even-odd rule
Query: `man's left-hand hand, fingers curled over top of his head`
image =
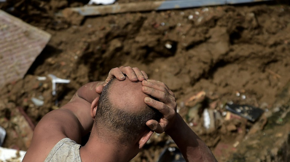
[(125, 75), (130, 79), (132, 82), (136, 81), (143, 81), (148, 79), (147, 74), (145, 71), (139, 70), (138, 67), (129, 67), (129, 66), (121, 66), (116, 67), (110, 70), (107, 79), (105, 80), (104, 84), (99, 85), (96, 87), (96, 92), (101, 94), (103, 91), (104, 86), (111, 81), (113, 78), (117, 78), (119, 81), (125, 80)]

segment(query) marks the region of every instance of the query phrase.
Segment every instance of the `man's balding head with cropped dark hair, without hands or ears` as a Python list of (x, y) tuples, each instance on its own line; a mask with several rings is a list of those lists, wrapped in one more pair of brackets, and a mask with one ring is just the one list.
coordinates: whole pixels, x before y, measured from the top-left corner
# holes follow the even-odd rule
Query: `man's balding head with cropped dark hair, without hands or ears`
[(142, 92), (141, 82), (112, 79), (103, 89), (96, 109), (96, 134), (104, 139), (118, 138), (123, 144), (131, 143), (141, 133), (149, 131), (146, 122), (159, 120), (161, 113), (145, 104), (148, 95)]

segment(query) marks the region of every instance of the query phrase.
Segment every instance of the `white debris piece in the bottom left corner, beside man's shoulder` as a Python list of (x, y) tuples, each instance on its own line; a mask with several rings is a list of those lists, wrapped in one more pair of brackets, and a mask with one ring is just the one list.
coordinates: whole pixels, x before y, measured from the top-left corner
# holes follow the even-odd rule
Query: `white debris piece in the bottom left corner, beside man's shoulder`
[(22, 161), (26, 151), (0, 147), (0, 161)]

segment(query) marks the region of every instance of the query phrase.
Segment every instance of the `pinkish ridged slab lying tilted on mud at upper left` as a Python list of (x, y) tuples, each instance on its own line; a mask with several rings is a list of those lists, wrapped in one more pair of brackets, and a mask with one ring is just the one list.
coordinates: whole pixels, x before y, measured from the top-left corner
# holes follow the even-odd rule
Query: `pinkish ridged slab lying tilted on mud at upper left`
[(23, 78), (50, 37), (0, 10), (0, 87)]

